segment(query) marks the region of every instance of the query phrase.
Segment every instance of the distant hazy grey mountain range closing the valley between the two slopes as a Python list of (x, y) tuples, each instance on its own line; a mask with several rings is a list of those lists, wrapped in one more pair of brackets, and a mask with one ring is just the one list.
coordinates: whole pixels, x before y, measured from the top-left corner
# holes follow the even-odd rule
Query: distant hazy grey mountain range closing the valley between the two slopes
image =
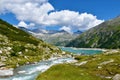
[(71, 34), (65, 30), (20, 29), (32, 34), (38, 39), (42, 39), (43, 41), (56, 46), (65, 46), (69, 41), (75, 39), (79, 34), (82, 33), (82, 31), (79, 30)]

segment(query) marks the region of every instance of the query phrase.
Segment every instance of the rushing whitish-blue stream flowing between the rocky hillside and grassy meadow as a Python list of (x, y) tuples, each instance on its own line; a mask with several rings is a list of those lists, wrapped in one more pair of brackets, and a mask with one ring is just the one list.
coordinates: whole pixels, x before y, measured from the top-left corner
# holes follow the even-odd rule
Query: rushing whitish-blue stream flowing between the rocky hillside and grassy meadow
[(75, 61), (73, 58), (54, 58), (46, 61), (41, 61), (36, 64), (24, 65), (14, 70), (14, 75), (0, 80), (35, 80), (38, 74), (46, 71), (51, 66), (60, 63), (70, 63)]

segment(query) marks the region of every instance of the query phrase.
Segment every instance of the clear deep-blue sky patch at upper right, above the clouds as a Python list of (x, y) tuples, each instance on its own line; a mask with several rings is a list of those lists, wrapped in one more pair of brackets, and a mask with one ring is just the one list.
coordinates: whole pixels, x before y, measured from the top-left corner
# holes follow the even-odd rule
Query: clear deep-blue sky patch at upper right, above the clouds
[(49, 2), (57, 10), (87, 12), (104, 20), (120, 15), (120, 0), (49, 0)]

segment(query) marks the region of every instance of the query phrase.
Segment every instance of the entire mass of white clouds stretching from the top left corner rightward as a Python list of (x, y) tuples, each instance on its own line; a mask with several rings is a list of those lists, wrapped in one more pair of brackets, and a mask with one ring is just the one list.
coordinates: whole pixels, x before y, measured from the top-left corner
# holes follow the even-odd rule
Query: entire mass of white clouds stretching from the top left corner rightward
[[(19, 21), (24, 21), (20, 22), (22, 25), (25, 21), (34, 23), (25, 23), (27, 27), (35, 24), (40, 26), (61, 26), (61, 29), (69, 29), (68, 31), (75, 29), (86, 30), (104, 21), (98, 20), (96, 16), (88, 13), (70, 10), (55, 11), (55, 8), (48, 0), (1, 0), (0, 14), (9, 12), (15, 14)], [(25, 24), (24, 27), (26, 27)]]

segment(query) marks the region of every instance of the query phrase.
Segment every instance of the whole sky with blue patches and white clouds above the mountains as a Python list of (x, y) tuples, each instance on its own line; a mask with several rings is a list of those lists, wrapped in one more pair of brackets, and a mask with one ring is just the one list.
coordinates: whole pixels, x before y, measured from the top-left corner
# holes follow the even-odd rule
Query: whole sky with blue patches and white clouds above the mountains
[(1, 0), (0, 7), (0, 18), (13, 25), (69, 32), (87, 30), (120, 15), (120, 0)]

